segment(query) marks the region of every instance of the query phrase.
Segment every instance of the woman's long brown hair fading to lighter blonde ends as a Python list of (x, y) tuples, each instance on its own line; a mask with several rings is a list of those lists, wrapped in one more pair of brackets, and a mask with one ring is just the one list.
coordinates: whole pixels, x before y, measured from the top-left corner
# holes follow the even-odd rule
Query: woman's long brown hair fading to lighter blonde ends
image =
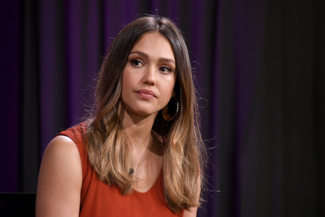
[(200, 205), (198, 191), (206, 159), (188, 49), (173, 21), (153, 15), (141, 17), (126, 25), (115, 37), (99, 72), (86, 148), (100, 180), (118, 185), (122, 194), (132, 193), (134, 180), (129, 175), (132, 162), (118, 106), (128, 55), (139, 38), (148, 32), (166, 37), (175, 55), (174, 89), (179, 111), (171, 121), (166, 121), (159, 111), (152, 130), (165, 141), (162, 167), (166, 202), (172, 211), (180, 212)]

